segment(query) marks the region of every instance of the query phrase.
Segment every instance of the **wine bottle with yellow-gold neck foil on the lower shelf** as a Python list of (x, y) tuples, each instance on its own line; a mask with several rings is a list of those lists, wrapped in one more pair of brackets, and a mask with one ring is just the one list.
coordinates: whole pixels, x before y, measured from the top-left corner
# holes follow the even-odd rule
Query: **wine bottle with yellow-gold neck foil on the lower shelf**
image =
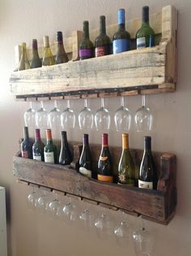
[(129, 151), (129, 134), (122, 134), (122, 154), (118, 166), (118, 183), (134, 186), (134, 161)]

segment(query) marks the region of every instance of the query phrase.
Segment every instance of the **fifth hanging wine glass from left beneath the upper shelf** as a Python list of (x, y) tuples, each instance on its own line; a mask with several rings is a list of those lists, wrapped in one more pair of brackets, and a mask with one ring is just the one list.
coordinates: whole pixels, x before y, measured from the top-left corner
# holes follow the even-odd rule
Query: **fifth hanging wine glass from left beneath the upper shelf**
[(91, 109), (87, 106), (87, 98), (84, 99), (84, 108), (79, 112), (79, 128), (91, 129), (94, 123), (94, 115)]

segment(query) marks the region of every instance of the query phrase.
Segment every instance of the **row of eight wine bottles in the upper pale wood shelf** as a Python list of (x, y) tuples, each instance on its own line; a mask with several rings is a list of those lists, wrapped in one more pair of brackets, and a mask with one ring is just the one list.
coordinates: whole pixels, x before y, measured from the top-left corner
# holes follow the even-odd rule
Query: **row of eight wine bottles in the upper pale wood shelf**
[[(136, 34), (137, 49), (154, 46), (155, 33), (149, 25), (149, 7), (142, 7), (142, 27)], [(44, 37), (44, 55), (41, 60), (38, 54), (37, 40), (32, 40), (32, 61), (29, 63), (26, 43), (22, 44), (22, 54), (19, 60), (18, 70), (51, 66), (68, 62), (68, 57), (63, 45), (62, 32), (57, 32), (57, 54), (54, 59), (49, 46), (49, 37)], [(83, 21), (83, 39), (79, 44), (80, 59), (89, 59), (108, 54), (118, 54), (131, 50), (130, 34), (125, 30), (125, 9), (118, 10), (118, 31), (114, 33), (112, 41), (106, 34), (105, 16), (100, 16), (100, 34), (96, 37), (95, 44), (89, 37), (89, 23)]]

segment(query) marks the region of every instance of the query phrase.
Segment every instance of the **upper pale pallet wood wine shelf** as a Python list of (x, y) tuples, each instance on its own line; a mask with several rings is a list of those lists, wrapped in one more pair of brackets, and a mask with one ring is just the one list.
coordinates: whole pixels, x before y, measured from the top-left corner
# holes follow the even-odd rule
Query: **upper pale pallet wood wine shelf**
[[(127, 24), (134, 41), (141, 20)], [(74, 46), (69, 63), (13, 72), (11, 93), (16, 100), (36, 101), (173, 92), (176, 86), (176, 8), (163, 7), (161, 13), (151, 15), (151, 26), (160, 39), (159, 45), (83, 61), (77, 60), (82, 33), (76, 32), (76, 37), (70, 40), (74, 41)], [(115, 30), (117, 25), (108, 26), (108, 35)], [(91, 39), (97, 33), (94, 31)]]

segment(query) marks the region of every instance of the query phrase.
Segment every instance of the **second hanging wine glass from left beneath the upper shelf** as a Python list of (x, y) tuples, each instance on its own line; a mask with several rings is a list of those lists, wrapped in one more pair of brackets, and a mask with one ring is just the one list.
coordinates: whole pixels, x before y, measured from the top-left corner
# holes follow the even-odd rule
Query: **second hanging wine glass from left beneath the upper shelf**
[(36, 111), (36, 127), (46, 129), (49, 126), (49, 115), (43, 106), (43, 101), (40, 102), (40, 109)]

